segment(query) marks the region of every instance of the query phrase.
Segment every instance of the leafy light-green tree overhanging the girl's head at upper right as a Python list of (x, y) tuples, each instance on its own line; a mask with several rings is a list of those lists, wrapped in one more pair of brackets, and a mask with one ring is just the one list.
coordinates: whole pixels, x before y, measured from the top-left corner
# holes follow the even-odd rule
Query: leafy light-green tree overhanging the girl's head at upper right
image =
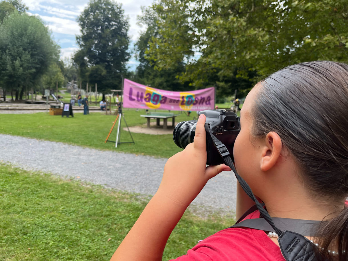
[[(160, 0), (158, 35), (145, 57), (185, 63), (181, 81), (222, 89), (303, 61), (348, 62), (345, 0)], [(168, 55), (170, 54), (170, 55)], [(229, 79), (236, 79), (233, 83)]]

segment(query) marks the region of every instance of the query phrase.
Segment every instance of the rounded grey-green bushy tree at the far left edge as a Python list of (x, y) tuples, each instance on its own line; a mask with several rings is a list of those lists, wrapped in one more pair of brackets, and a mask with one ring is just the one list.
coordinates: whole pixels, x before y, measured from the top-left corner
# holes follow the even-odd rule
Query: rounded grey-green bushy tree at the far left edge
[(16, 91), (16, 100), (36, 87), (58, 55), (58, 46), (39, 18), (14, 11), (0, 24), (0, 79)]

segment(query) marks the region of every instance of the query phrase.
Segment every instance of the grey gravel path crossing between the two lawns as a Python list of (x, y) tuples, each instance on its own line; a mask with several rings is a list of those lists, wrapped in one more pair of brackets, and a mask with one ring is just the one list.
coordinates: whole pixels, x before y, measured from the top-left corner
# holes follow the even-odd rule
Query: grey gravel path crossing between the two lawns
[[(0, 134), (0, 141), (1, 162), (144, 195), (156, 192), (167, 161), (166, 158), (101, 151), (3, 134)], [(234, 215), (235, 191), (234, 175), (222, 172), (209, 180), (190, 209), (200, 216), (212, 212)]]

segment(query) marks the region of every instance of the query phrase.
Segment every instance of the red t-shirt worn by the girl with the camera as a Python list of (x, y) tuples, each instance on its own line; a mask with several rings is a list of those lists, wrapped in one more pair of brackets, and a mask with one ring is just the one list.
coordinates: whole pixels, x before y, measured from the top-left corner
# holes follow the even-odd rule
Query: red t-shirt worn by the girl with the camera
[[(245, 219), (259, 218), (255, 211)], [(228, 228), (199, 242), (176, 261), (285, 261), (279, 246), (262, 231), (251, 228)]]

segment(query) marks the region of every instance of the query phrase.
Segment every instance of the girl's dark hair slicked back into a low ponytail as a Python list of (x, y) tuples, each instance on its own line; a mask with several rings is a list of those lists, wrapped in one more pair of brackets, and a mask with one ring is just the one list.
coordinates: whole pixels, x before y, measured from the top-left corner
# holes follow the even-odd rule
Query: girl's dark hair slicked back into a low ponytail
[[(343, 207), (348, 196), (348, 65), (316, 61), (288, 66), (261, 81), (253, 135), (276, 132), (313, 197)], [(318, 231), (332, 258), (348, 260), (348, 208)]]

